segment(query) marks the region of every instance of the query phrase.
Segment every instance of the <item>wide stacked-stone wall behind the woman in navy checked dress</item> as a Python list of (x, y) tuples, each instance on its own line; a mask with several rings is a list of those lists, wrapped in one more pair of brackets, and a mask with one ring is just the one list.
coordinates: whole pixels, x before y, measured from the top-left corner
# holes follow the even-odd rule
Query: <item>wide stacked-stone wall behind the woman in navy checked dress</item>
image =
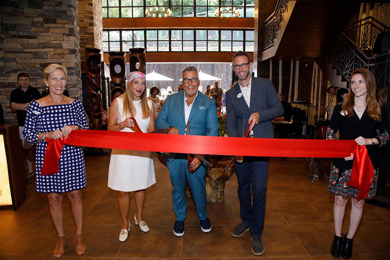
[(76, 0), (0, 2), (0, 103), (6, 123), (16, 123), (9, 96), (20, 72), (27, 72), (30, 85), (42, 92), (43, 69), (62, 64), (70, 96), (82, 100), (79, 39)]

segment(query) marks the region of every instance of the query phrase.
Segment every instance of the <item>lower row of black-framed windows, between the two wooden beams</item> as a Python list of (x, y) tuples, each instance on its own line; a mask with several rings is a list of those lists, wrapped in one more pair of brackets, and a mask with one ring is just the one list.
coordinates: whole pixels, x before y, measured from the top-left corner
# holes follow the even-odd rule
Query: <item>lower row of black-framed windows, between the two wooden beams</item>
[(103, 30), (103, 51), (254, 51), (254, 30)]

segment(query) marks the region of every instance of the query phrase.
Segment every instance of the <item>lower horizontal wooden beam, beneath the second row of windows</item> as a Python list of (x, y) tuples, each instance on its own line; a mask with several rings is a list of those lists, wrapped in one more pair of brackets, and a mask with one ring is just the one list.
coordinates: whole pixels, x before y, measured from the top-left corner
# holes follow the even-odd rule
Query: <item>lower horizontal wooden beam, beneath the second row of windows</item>
[[(178, 51), (178, 52), (147, 52), (146, 62), (232, 62), (235, 52), (205, 52), (205, 51)], [(253, 53), (248, 53), (253, 60)], [(104, 53), (104, 61), (108, 63), (108, 53)], [(126, 62), (129, 54), (126, 53)]]

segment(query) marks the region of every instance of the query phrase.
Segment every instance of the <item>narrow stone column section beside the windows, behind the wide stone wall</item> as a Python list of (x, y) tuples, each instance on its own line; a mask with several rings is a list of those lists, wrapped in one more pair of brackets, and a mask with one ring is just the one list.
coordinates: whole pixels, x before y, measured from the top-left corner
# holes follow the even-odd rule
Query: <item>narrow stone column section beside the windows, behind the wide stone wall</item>
[(101, 0), (79, 0), (80, 58), (85, 60), (85, 48), (98, 48), (103, 60), (103, 21)]

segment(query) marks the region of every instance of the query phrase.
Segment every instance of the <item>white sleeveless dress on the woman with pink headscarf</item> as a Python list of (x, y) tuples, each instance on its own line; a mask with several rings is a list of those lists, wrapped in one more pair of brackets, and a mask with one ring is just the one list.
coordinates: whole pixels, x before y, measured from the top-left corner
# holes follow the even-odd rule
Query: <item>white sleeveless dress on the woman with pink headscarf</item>
[[(123, 99), (117, 97), (119, 107), (118, 123), (126, 119), (123, 114)], [(152, 101), (147, 100), (149, 108)], [(133, 101), (135, 106), (138, 126), (146, 133), (150, 123), (150, 117), (142, 119), (142, 108), (140, 101)], [(121, 132), (133, 132), (125, 128)], [(152, 147), (151, 147), (152, 149)], [(110, 167), (108, 169), (108, 187), (117, 191), (137, 191), (146, 189), (156, 183), (152, 153), (147, 151), (133, 151), (112, 149)]]

